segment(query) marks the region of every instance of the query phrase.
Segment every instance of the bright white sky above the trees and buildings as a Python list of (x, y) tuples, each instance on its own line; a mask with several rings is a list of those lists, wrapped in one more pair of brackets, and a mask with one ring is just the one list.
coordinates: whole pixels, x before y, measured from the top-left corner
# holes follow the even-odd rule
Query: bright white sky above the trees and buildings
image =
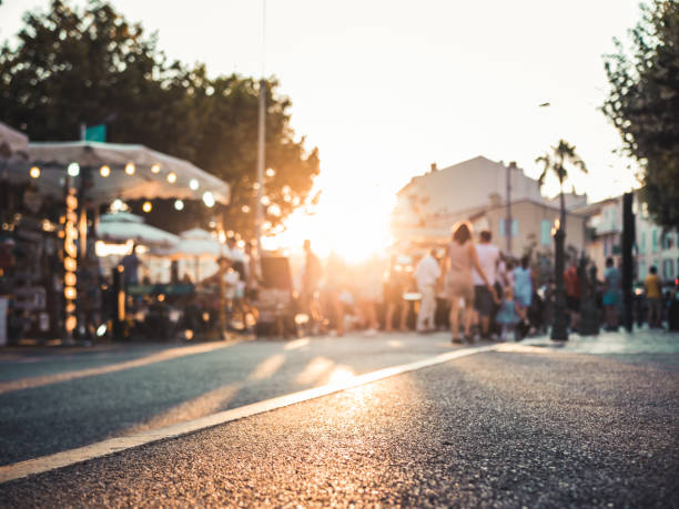
[[(287, 242), (384, 245), (395, 193), (430, 163), (484, 155), (537, 176), (535, 159), (559, 139), (587, 164), (572, 184), (590, 201), (635, 185), (598, 109), (602, 55), (614, 37), (628, 41), (638, 0), (266, 0), (265, 17), (263, 0), (112, 3), (158, 31), (171, 59), (280, 80), (292, 128), (320, 150), (323, 190), (317, 215), (293, 218)], [(48, 4), (4, 0), (0, 39)]]

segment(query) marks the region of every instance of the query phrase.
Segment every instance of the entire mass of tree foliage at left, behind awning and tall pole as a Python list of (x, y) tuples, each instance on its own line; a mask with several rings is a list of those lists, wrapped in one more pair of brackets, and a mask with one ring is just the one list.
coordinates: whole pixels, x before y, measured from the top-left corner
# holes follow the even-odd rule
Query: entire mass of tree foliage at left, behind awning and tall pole
[[(23, 21), (18, 43), (4, 42), (0, 50), (4, 122), (32, 141), (77, 140), (81, 123), (105, 123), (109, 142), (140, 143), (188, 159), (231, 184), (232, 203), (222, 211), (226, 226), (252, 234), (257, 80), (211, 78), (203, 64), (170, 61), (158, 49), (156, 34), (102, 0), (90, 0), (83, 9), (52, 0), (47, 11), (27, 12)], [(320, 172), (317, 149), (307, 151), (304, 138), (295, 136), (292, 102), (277, 93), (278, 85), (266, 80), (270, 231), (305, 202)], [(178, 231), (204, 212), (196, 206), (180, 214), (170, 201), (159, 201), (149, 218)]]

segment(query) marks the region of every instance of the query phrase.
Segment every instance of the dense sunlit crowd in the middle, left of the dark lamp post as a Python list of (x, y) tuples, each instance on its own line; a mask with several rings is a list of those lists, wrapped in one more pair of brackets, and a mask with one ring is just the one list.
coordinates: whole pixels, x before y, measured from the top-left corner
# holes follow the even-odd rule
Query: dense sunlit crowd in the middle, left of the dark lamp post
[(444, 250), (415, 261), (394, 254), (385, 267), (377, 257), (349, 267), (333, 254), (323, 266), (305, 241), (300, 302), (312, 332), (449, 328), (454, 343), (526, 334), (535, 287), (528, 258), (513, 267), (490, 232), (473, 236), (469, 223), (459, 223)]

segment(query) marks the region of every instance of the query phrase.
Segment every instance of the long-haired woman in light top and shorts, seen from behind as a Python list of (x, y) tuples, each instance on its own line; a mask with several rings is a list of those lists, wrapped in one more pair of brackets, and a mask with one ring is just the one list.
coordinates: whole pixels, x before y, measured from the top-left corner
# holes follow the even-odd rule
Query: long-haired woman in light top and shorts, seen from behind
[(486, 277), (486, 273), (478, 263), (476, 247), (472, 238), (472, 225), (464, 221), (453, 226), (450, 242), (442, 259), (442, 273), (445, 293), (450, 301), (450, 332), (453, 343), (462, 343), (459, 338), (459, 307), (464, 302), (464, 337), (473, 342), (472, 319), (474, 318), (474, 278), (472, 268), (476, 268), (478, 276), (486, 284), (493, 298), (497, 299), (495, 288)]

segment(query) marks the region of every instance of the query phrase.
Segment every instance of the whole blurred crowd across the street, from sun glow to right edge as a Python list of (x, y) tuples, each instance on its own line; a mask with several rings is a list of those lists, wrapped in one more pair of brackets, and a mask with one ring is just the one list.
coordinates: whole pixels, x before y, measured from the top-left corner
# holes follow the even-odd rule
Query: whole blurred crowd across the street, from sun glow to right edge
[[(311, 332), (343, 335), (347, 327), (373, 335), (377, 329), (449, 330), (450, 342), (478, 339), (520, 340), (546, 333), (553, 322), (553, 274), (537, 269), (528, 255), (520, 259), (501, 253), (491, 233), (475, 238), (468, 222), (457, 223), (445, 246), (411, 259), (392, 255), (383, 267), (379, 258), (347, 266), (331, 255), (325, 266), (305, 241), (301, 307)], [(608, 258), (602, 278), (582, 281), (580, 261), (572, 256), (564, 274), (566, 312), (571, 332), (579, 332), (582, 292), (594, 295), (601, 324), (618, 328), (621, 309), (620, 269)], [(637, 322), (659, 326), (661, 285), (655, 267), (645, 281), (645, 309)], [(643, 313), (643, 317), (640, 314)]]

